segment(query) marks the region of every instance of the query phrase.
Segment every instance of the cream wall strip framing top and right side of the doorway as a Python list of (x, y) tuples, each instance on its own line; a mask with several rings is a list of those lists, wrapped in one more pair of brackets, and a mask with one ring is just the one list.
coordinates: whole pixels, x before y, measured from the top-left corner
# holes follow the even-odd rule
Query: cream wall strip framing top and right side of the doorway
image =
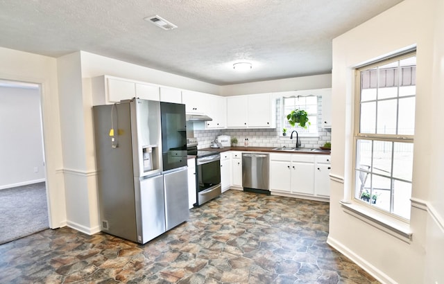
[(49, 197), (49, 225), (65, 226), (65, 184), (62, 175), (62, 143), (56, 59), (8, 48), (0, 48), (0, 78), (33, 82), (42, 89), (42, 121), (46, 166), (46, 188)]

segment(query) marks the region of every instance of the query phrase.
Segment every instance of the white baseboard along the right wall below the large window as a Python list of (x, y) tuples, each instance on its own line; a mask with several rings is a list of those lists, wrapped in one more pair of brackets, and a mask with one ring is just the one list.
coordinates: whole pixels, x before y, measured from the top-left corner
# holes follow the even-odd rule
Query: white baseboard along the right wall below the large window
[(348, 247), (345, 247), (344, 245), (342, 245), (341, 242), (338, 242), (338, 241), (334, 240), (333, 238), (331, 238), (330, 236), (328, 236), (327, 244), (332, 246), (334, 249), (339, 251), (344, 256), (347, 256), (348, 258), (350, 258), (350, 260), (352, 260), (354, 263), (359, 265), (359, 267), (361, 267), (366, 272), (368, 272), (368, 274), (373, 276), (377, 281), (379, 281), (381, 283), (397, 283), (392, 278), (390, 278), (387, 274), (385, 274), (381, 270), (377, 269), (376, 267), (374, 267), (373, 265), (368, 263), (367, 260), (365, 260), (364, 258), (361, 258), (361, 256), (358, 256), (353, 251), (350, 251), (350, 249), (348, 249)]

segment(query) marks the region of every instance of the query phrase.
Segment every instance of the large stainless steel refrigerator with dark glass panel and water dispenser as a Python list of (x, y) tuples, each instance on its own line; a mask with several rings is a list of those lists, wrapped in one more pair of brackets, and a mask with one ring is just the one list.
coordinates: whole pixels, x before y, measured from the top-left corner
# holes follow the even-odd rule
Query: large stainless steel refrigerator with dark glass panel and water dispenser
[(101, 231), (146, 243), (189, 217), (185, 105), (93, 107)]

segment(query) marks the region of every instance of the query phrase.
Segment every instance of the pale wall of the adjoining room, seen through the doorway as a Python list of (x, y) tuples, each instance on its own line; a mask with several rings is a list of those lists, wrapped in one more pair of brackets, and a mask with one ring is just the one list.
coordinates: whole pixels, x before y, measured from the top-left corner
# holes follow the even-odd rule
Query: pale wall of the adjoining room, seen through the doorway
[(0, 133), (0, 189), (44, 181), (39, 89), (0, 87)]

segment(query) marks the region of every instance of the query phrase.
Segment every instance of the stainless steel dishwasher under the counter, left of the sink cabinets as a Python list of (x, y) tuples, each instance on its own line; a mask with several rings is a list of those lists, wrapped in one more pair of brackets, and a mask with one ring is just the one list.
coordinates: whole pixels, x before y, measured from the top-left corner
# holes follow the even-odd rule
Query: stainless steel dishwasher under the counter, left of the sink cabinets
[(242, 153), (242, 186), (244, 191), (270, 194), (268, 154)]

